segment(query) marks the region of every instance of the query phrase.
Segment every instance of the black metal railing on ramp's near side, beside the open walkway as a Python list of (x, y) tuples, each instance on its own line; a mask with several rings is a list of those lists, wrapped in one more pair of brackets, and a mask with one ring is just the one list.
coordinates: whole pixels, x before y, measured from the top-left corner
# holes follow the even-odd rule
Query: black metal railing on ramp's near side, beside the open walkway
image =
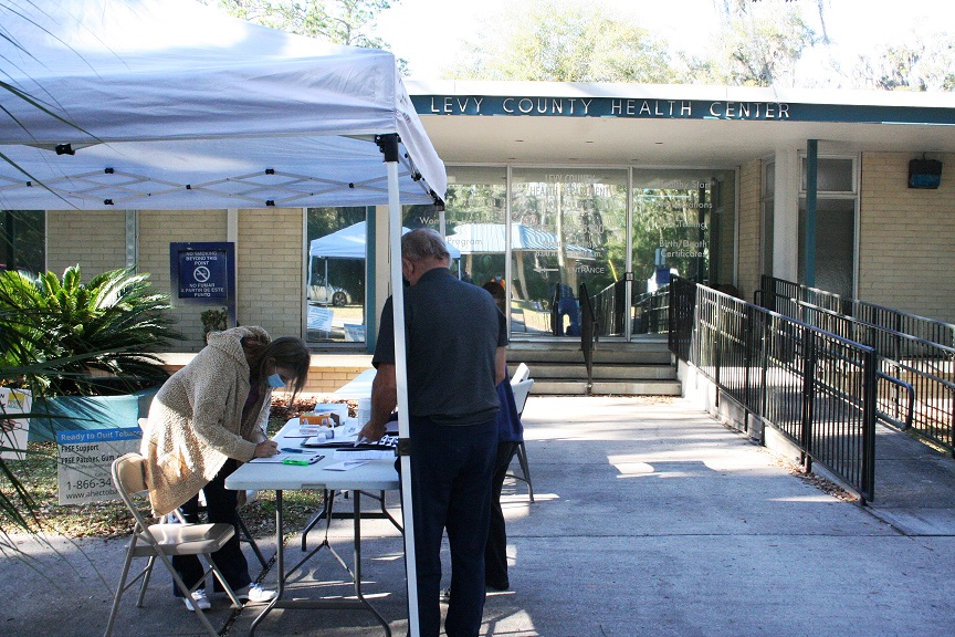
[(865, 500), (874, 498), (875, 352), (680, 278), (670, 349)]

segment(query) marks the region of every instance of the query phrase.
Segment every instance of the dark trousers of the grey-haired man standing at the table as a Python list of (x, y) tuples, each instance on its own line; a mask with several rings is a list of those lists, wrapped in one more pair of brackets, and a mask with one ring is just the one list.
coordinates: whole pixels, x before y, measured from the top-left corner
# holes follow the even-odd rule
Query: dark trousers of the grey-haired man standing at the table
[(421, 637), (438, 637), (441, 631), (441, 539), (445, 528), (451, 549), (451, 601), (444, 630), (448, 637), (476, 637), (484, 613), (484, 545), (497, 420), (451, 426), (412, 416), (410, 429)]

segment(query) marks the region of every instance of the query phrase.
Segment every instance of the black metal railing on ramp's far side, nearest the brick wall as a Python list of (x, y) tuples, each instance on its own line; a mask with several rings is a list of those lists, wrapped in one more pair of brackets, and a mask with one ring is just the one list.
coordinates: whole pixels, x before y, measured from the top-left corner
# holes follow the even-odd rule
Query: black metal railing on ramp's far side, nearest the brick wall
[[(901, 428), (911, 427), (919, 436), (955, 455), (955, 348), (840, 313), (833, 309), (838, 304), (831, 302), (835, 295), (829, 297), (829, 307), (818, 306), (802, 300), (796, 284), (770, 278), (764, 278), (764, 283), (767, 280), (770, 283), (767, 288), (772, 289), (764, 289), (760, 295), (765, 306), (875, 351), (880, 419)], [(811, 297), (827, 299), (821, 294)], [(898, 321), (906, 328), (917, 327), (915, 332), (945, 336), (941, 327), (947, 324), (930, 323)]]

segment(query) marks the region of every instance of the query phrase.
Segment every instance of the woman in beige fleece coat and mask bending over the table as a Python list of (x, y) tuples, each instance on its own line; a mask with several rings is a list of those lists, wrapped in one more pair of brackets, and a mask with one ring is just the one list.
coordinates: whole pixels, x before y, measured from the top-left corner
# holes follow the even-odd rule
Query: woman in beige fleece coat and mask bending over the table
[[(241, 462), (276, 453), (276, 443), (265, 436), (272, 389), (292, 386), (294, 399), (305, 386), (309, 359), (301, 338), (272, 341), (264, 330), (251, 326), (212, 332), (208, 345), (156, 394), (143, 430), (140, 453), (147, 460), (154, 513), (181, 507), (186, 520), (197, 522), (202, 490), (209, 522), (235, 528), (212, 560), (239, 597), (251, 602), (267, 602), (275, 592), (251, 585), (239, 544), (239, 493), (227, 490), (224, 482)], [(195, 555), (174, 555), (172, 565), (190, 588), (202, 577)], [(182, 596), (176, 586), (174, 595)], [(209, 608), (204, 584), (185, 602), (189, 610), (193, 604)]]

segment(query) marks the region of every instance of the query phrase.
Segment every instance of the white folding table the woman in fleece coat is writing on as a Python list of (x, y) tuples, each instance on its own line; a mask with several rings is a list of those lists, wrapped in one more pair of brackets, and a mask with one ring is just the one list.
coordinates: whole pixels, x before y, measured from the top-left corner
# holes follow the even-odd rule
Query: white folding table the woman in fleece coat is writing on
[[(301, 438), (288, 438), (297, 434), (297, 418), (291, 419), (275, 436), (279, 447), (297, 448)], [(395, 460), (369, 460), (366, 464), (349, 469), (347, 471), (329, 471), (326, 467), (340, 462), (334, 458), (334, 449), (315, 449), (325, 458), (315, 464), (297, 466), (274, 462), (246, 462), (225, 479), (225, 488), (233, 490), (274, 490), (275, 491), (275, 546), (277, 566), (277, 592), (262, 613), (252, 623), (249, 634), (254, 635), (255, 628), (273, 608), (334, 608), (334, 609), (358, 609), (368, 610), (385, 627), (388, 637), (391, 628), (378, 612), (368, 603), (361, 594), (361, 491), (388, 491), (397, 490), (400, 484), (398, 471), (395, 469)], [(326, 522), (332, 521), (332, 505), (335, 491), (350, 491), (353, 495), (354, 519), (354, 564), (348, 568), (347, 564), (338, 556), (328, 544), (327, 534), (322, 544), (313, 549), (295, 566), (285, 571), (285, 555), (282, 542), (282, 492), (287, 490), (322, 490), (326, 491), (325, 507), (327, 509)], [(335, 558), (351, 574), (355, 586), (356, 599), (284, 599), (285, 581), (300, 566), (308, 561), (312, 555), (321, 549), (327, 547)]]

